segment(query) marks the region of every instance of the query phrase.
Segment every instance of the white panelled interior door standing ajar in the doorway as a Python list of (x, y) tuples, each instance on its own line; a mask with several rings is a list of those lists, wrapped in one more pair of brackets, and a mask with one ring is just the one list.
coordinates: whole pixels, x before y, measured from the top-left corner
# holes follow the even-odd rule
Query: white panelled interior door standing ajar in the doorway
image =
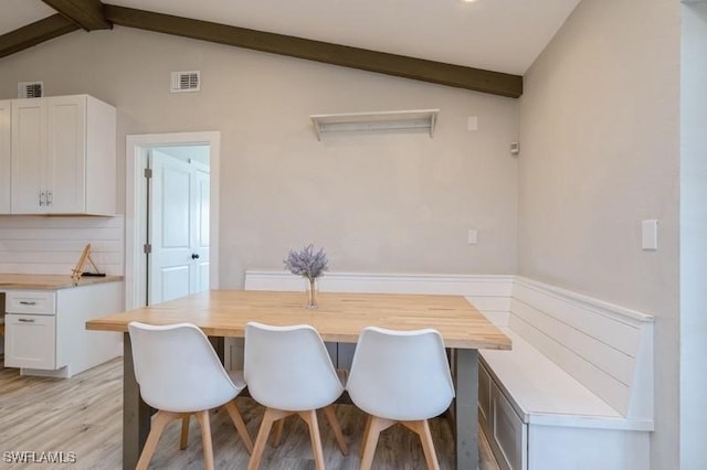
[(209, 288), (209, 170), (154, 149), (148, 303)]

